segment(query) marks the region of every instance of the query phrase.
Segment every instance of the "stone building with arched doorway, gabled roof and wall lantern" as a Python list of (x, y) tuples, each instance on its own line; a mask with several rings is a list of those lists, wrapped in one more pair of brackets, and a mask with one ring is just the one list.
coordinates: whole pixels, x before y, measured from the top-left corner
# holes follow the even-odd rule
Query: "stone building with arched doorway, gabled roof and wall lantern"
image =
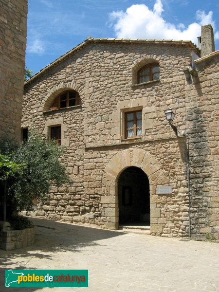
[(53, 187), (36, 216), (219, 240), (219, 51), (206, 45), (211, 31), (202, 27), (201, 52), (183, 40), (88, 38), (26, 82), (22, 129), (66, 146), (74, 182)]

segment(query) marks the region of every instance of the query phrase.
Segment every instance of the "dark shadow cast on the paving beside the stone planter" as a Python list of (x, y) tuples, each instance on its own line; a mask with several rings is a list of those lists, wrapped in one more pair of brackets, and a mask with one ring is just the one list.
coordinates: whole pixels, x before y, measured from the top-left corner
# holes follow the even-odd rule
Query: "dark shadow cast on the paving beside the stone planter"
[[(35, 243), (29, 247), (13, 250), (0, 250), (0, 291), (6, 292), (4, 287), (4, 270), (35, 270), (38, 265), (33, 264), (33, 259), (54, 260), (54, 253), (67, 252), (80, 253), (82, 248), (88, 246), (104, 245), (102, 240), (122, 236), (126, 233), (121, 231), (110, 231), (91, 228), (71, 223), (61, 223), (48, 219), (28, 218), (35, 226)], [(100, 242), (101, 241), (101, 242)], [(113, 247), (112, 247), (113, 248)], [(19, 264), (22, 258), (26, 264)], [(31, 266), (28, 264), (31, 258)], [(18, 262), (18, 264), (16, 264)], [(57, 267), (57, 266), (56, 266)], [(46, 269), (46, 267), (41, 268)], [(51, 269), (51, 268), (49, 268)], [(22, 291), (40, 291), (43, 288), (22, 288)], [(21, 291), (20, 288), (11, 288), (10, 291)]]

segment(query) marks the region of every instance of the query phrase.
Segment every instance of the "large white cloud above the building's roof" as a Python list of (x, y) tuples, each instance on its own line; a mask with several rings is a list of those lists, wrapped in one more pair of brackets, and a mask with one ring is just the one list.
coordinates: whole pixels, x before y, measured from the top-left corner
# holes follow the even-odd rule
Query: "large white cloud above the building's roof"
[[(119, 38), (183, 39), (197, 43), (197, 37), (201, 36), (201, 25), (211, 23), (215, 28), (212, 11), (206, 14), (198, 10), (198, 22), (193, 22), (187, 27), (183, 23), (176, 26), (166, 22), (162, 17), (163, 11), (162, 1), (156, 0), (153, 10), (149, 10), (145, 4), (131, 5), (126, 12), (110, 13), (110, 21), (113, 23), (116, 37)], [(219, 39), (219, 32), (215, 32), (215, 38)]]

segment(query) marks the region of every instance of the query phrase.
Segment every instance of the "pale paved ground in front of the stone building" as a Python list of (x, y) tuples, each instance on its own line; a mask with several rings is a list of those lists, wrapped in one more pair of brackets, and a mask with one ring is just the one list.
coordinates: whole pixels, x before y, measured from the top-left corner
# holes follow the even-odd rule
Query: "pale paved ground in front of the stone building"
[[(54, 292), (219, 292), (219, 244), (126, 234), (33, 219), (36, 243), (0, 251), (4, 269), (88, 269), (89, 288), (22, 288)], [(48, 229), (54, 228), (54, 229)]]

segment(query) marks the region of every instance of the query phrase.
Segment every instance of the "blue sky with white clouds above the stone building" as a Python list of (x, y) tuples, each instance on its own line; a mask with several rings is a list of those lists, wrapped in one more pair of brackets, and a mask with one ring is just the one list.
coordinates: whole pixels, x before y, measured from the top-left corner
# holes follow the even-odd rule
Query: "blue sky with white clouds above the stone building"
[(40, 69), (91, 37), (191, 39), (211, 23), (219, 50), (218, 0), (29, 0), (26, 67)]

